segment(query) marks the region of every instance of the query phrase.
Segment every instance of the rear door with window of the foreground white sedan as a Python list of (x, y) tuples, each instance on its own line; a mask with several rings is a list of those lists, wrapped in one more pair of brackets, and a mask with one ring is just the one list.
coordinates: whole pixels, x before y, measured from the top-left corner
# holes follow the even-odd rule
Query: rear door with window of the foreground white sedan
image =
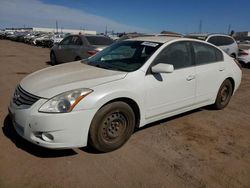
[(213, 101), (223, 82), (226, 65), (222, 52), (205, 43), (192, 42), (196, 63), (196, 104)]

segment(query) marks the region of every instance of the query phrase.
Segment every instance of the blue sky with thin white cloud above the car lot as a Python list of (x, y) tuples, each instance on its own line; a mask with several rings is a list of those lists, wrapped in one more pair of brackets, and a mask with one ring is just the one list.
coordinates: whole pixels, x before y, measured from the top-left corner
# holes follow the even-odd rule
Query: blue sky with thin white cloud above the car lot
[(84, 28), (104, 32), (250, 31), (250, 0), (0, 0), (0, 27)]

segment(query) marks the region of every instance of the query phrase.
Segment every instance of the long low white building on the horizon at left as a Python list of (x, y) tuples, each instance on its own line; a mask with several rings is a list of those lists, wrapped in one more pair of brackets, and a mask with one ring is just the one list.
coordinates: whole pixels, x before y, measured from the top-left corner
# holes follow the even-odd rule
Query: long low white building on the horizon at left
[[(46, 27), (18, 27), (18, 28), (5, 28), (6, 31), (40, 31), (47, 33), (56, 33), (56, 28), (46, 28)], [(63, 33), (72, 33), (72, 34), (87, 34), (87, 35), (96, 35), (96, 31), (83, 30), (83, 29), (59, 29), (58, 32)]]

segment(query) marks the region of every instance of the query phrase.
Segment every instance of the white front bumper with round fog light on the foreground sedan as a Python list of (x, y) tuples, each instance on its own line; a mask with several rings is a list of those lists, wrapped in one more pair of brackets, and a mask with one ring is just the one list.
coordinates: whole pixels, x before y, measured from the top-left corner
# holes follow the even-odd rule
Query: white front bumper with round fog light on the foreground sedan
[(28, 109), (19, 108), (12, 101), (9, 114), (16, 132), (26, 140), (46, 148), (76, 148), (87, 145), (88, 132), (96, 109), (70, 113), (41, 113), (40, 99)]

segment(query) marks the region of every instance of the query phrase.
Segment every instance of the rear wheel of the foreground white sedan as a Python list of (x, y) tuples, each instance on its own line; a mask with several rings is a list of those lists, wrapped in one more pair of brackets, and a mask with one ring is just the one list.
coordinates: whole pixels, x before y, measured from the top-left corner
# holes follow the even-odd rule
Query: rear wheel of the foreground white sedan
[(233, 85), (230, 80), (225, 80), (220, 86), (213, 107), (217, 110), (225, 108), (228, 105), (232, 94), (233, 94)]

